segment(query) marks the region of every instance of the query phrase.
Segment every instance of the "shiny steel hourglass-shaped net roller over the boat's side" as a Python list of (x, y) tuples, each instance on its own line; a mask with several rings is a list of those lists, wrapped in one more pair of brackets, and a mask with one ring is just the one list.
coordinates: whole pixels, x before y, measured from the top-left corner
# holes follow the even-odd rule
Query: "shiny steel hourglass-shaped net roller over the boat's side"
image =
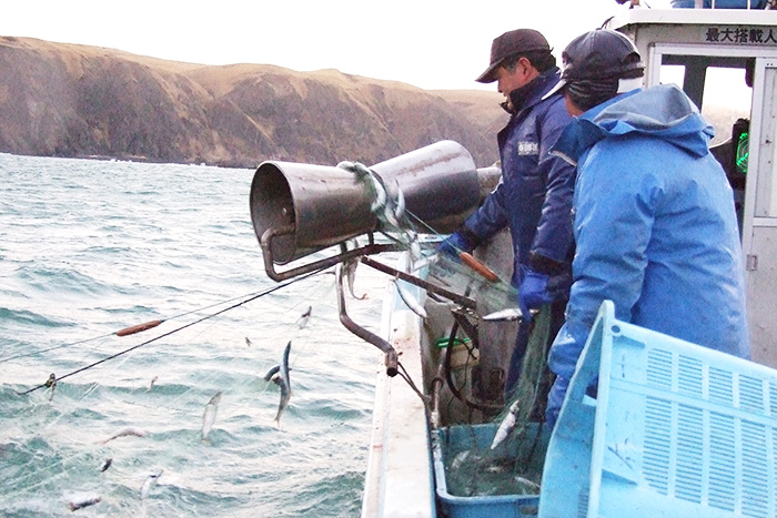
[[(458, 143), (442, 141), (370, 167), (389, 195), (402, 190), (408, 214), (424, 222), (421, 233), (448, 233), (480, 201), (477, 170)], [(373, 199), (345, 169), (268, 161), (251, 185), (256, 237), (268, 235), (272, 262), (286, 264), (379, 227)], [(265, 258), (266, 261), (266, 258)]]

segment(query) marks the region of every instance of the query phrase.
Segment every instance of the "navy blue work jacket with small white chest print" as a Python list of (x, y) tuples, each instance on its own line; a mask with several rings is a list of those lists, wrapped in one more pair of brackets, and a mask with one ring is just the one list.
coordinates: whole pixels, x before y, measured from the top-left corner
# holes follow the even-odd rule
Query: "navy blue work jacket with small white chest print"
[[(543, 271), (543, 258), (557, 267), (542, 273), (566, 272), (568, 277), (571, 271), (575, 167), (548, 152), (572, 118), (563, 95), (543, 100), (557, 81), (558, 69), (553, 68), (524, 87), (519, 99), (513, 99), (515, 113), (497, 135), (502, 179), (465, 222), (480, 241), (509, 225), (515, 286), (522, 281), (519, 265)], [(536, 264), (532, 264), (533, 256)]]

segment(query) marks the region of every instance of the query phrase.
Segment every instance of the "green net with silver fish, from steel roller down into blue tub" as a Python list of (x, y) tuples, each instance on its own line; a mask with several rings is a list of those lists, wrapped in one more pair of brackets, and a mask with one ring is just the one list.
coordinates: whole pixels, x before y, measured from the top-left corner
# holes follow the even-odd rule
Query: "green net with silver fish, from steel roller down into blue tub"
[[(415, 221), (417, 225), (414, 224), (413, 215), (406, 211), (396, 211), (402, 197), (398, 185), (396, 197), (392, 197), (380, 177), (369, 173), (371, 171), (362, 171), (360, 177), (374, 193), (373, 213), (384, 235), (404, 245), (410, 253), (411, 270), (425, 268), (426, 272), (417, 273), (425, 273), (427, 278), (443, 287), (466, 293), (477, 301), (480, 308), (517, 305), (517, 292), (509, 282), (498, 277), (496, 281), (485, 278), (462, 261), (438, 254), (436, 244), (441, 236), (433, 228), (425, 227), (420, 220)], [(421, 242), (421, 232), (428, 232), (436, 240)], [(433, 294), (431, 296), (434, 297)], [(546, 351), (549, 324), (549, 308), (545, 307), (533, 319), (516, 388), (502, 412), (492, 419), (494, 435), (476, 437), (477, 434), (473, 433), (476, 440), (473, 440), (472, 447), (446, 455), (446, 470), (454, 475), (451, 488), (462, 496), (538, 492), (546, 446), (543, 443), (547, 441), (547, 433), (543, 433), (541, 420), (551, 383)], [(470, 355), (475, 358), (472, 351)], [(463, 376), (468, 376), (468, 368), (463, 369)], [(464, 379), (463, 383), (471, 384), (472, 379)]]

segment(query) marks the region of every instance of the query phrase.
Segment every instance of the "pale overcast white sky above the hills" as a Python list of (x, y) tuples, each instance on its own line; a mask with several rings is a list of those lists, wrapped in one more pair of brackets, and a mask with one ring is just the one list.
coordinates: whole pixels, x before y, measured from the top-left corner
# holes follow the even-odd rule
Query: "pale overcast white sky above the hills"
[(534, 28), (559, 58), (573, 38), (624, 9), (615, 0), (11, 0), (0, 10), (0, 35), (203, 64), (337, 69), (424, 89), (494, 89), (474, 78), (495, 37)]

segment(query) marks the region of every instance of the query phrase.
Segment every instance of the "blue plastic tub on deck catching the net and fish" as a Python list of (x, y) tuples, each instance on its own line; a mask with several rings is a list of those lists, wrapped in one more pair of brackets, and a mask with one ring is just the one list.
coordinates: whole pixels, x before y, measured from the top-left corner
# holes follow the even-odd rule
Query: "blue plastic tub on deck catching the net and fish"
[[(434, 475), (436, 492), (443, 512), (448, 518), (536, 518), (539, 495), (492, 495), (492, 496), (456, 496), (448, 492), (445, 463), (450, 456), (462, 451), (491, 451), (498, 423), (474, 426), (452, 426), (440, 428), (433, 441)], [(537, 433), (539, 435), (537, 436)], [(536, 446), (534, 438), (538, 437)], [(507, 439), (506, 445), (500, 446), (502, 454), (509, 458), (529, 458), (529, 469), (535, 474), (542, 473), (548, 434), (537, 430), (533, 424), (524, 436), (524, 440)]]

